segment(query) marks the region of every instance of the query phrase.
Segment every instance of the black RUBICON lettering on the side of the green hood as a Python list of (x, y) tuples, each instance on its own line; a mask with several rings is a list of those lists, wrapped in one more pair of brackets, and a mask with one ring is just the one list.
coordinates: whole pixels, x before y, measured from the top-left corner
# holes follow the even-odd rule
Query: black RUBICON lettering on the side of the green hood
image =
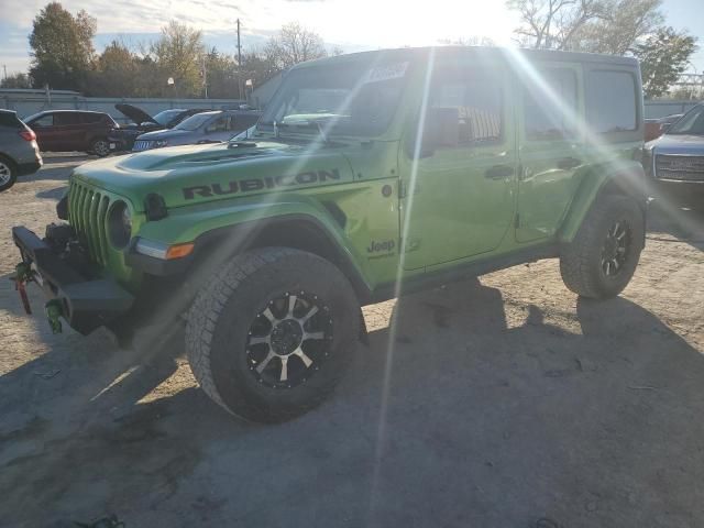
[(289, 176), (266, 176), (264, 178), (248, 178), (222, 184), (195, 185), (193, 187), (184, 187), (182, 190), (186, 200), (193, 200), (197, 197), (208, 198), (212, 196), (234, 195), (237, 193), (250, 193), (252, 190), (315, 184), (330, 179), (340, 179), (340, 170), (337, 168), (330, 170), (309, 170)]

